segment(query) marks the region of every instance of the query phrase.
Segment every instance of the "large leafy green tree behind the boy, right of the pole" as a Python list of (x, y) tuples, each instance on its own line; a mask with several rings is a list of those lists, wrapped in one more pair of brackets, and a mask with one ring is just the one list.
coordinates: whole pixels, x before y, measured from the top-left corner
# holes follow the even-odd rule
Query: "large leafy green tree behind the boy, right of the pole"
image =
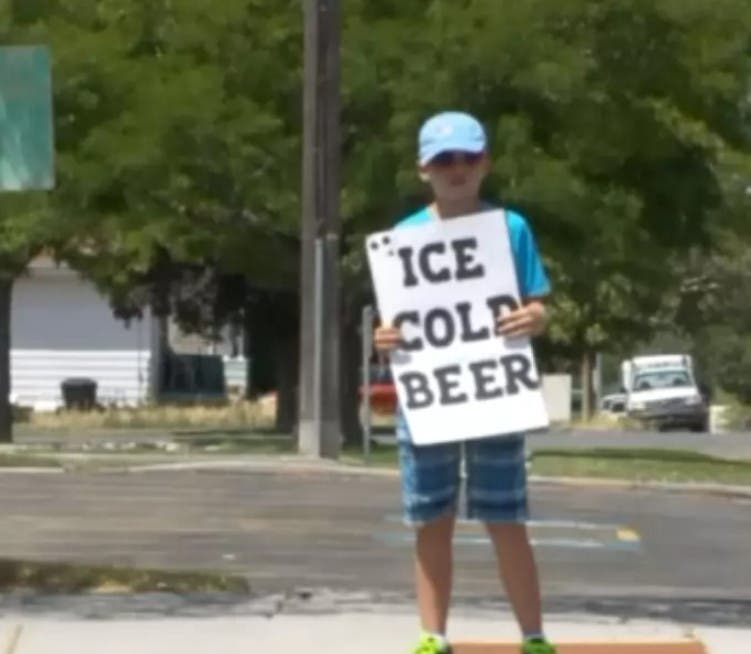
[(747, 170), (747, 4), (418, 5), (419, 29), (385, 11), (358, 49), (368, 88), (377, 78), (385, 97), (371, 91), (369, 118), (384, 129), (371, 126), (357, 150), (372, 162), (357, 209), (384, 226), (384, 188), (414, 201), (417, 126), (437, 109), (467, 108), (490, 127), (489, 195), (530, 216), (547, 253), (548, 349), (588, 369), (596, 350), (648, 338), (677, 284), (666, 262), (712, 247)]

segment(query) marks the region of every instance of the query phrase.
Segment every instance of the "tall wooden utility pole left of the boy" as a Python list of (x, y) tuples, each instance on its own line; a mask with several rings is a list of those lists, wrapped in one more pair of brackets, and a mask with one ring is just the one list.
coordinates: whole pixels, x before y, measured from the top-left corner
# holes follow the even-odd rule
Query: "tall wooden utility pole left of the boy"
[(341, 447), (340, 33), (339, 0), (305, 0), (298, 447), (332, 459)]

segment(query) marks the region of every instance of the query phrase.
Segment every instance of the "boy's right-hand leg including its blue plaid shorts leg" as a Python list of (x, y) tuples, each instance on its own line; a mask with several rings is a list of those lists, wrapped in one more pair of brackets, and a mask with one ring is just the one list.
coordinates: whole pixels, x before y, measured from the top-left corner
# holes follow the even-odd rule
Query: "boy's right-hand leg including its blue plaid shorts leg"
[(467, 443), (467, 502), (470, 517), (487, 526), (522, 633), (540, 635), (540, 583), (525, 524), (529, 507), (523, 436)]

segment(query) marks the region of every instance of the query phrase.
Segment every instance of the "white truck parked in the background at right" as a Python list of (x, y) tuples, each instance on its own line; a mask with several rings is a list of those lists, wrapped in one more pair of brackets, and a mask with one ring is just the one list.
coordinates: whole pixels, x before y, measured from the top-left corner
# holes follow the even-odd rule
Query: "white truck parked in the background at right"
[(638, 356), (621, 364), (626, 415), (655, 429), (707, 431), (709, 406), (687, 354)]

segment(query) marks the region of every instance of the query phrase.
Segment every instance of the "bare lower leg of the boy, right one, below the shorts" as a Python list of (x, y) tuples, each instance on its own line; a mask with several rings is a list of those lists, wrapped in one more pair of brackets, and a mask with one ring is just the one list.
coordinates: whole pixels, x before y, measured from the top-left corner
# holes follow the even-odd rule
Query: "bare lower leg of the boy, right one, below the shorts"
[(498, 570), (525, 635), (542, 634), (542, 601), (537, 562), (524, 524), (488, 523)]

